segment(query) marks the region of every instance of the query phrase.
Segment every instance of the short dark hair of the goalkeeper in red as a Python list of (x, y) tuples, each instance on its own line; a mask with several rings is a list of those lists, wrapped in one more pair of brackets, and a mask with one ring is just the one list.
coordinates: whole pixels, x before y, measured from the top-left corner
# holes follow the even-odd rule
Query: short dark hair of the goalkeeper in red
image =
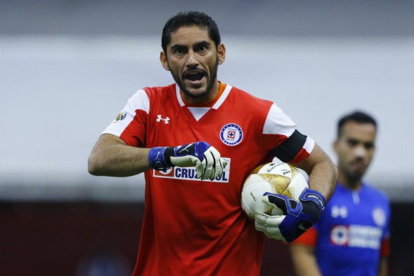
[(199, 26), (208, 29), (208, 35), (216, 47), (221, 43), (219, 28), (215, 21), (204, 12), (179, 12), (168, 19), (162, 30), (161, 47), (167, 53), (167, 45), (171, 41), (171, 34), (183, 26)]

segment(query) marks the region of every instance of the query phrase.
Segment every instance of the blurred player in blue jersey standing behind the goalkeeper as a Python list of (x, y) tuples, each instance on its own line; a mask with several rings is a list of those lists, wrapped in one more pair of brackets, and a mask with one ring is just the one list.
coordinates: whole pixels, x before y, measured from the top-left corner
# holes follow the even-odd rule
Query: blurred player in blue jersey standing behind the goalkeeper
[(377, 123), (364, 112), (338, 121), (339, 183), (321, 219), (290, 246), (299, 276), (387, 275), (390, 203), (362, 181), (375, 151)]

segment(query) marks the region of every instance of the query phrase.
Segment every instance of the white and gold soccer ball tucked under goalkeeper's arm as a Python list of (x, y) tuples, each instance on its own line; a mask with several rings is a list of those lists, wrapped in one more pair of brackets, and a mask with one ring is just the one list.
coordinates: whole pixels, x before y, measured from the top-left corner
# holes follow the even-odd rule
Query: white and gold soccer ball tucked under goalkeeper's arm
[(255, 218), (255, 212), (283, 215), (281, 209), (262, 201), (263, 194), (269, 192), (299, 200), (299, 195), (305, 188), (308, 188), (308, 182), (294, 166), (282, 161), (263, 164), (250, 172), (244, 181), (242, 208), (250, 219)]

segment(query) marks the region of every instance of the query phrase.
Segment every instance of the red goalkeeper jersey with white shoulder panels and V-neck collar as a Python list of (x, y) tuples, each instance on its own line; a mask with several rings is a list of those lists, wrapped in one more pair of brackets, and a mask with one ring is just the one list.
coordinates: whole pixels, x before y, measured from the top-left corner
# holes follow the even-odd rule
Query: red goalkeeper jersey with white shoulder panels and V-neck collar
[[(223, 83), (210, 107), (186, 106), (176, 84), (137, 91), (103, 133), (146, 148), (206, 141), (228, 165), (213, 181), (197, 179), (195, 168), (145, 172), (133, 275), (259, 275), (264, 235), (242, 211), (242, 184), (295, 131), (275, 103)], [(293, 162), (301, 161), (314, 141), (306, 137), (288, 146), (299, 146)]]

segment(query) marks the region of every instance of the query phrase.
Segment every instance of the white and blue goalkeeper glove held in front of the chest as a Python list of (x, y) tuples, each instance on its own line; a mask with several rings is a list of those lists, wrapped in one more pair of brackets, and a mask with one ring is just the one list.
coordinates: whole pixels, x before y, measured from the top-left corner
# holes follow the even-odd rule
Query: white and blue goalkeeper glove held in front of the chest
[(220, 152), (210, 144), (199, 141), (182, 146), (155, 147), (148, 155), (151, 168), (195, 167), (197, 177), (213, 180), (223, 175), (227, 161), (221, 159)]

